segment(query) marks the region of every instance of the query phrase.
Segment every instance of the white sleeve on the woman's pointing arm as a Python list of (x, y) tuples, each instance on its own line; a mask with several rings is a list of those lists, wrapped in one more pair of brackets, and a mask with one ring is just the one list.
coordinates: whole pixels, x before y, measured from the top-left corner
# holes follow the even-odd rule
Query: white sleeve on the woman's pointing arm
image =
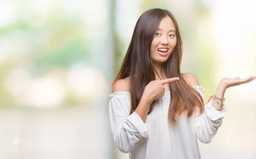
[(114, 92), (109, 97), (109, 120), (113, 140), (120, 151), (129, 153), (140, 139), (148, 138), (147, 125), (135, 112), (129, 115), (129, 92)]

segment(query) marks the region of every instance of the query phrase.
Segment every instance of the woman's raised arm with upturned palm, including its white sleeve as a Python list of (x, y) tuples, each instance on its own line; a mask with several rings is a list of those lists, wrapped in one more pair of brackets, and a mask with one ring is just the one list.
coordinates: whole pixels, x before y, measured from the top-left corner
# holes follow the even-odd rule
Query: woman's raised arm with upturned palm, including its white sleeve
[[(251, 76), (251, 77), (248, 77), (247, 79), (240, 79), (239, 77), (236, 77), (233, 79), (223, 78), (218, 85), (215, 96), (219, 98), (223, 98), (227, 88), (248, 83), (253, 81), (254, 79), (256, 79), (256, 76), (255, 77)], [(204, 94), (202, 92), (203, 90), (199, 89), (198, 91), (203, 97), (204, 103), (206, 103)], [(216, 110), (215, 108), (218, 108), (218, 109), (223, 108), (223, 110), (220, 111), (220, 110)], [(203, 114), (201, 115), (195, 114), (195, 117), (193, 119), (194, 131), (199, 141), (203, 143), (209, 143), (212, 141), (212, 139), (214, 138), (214, 136), (218, 131), (218, 128), (221, 126), (222, 119), (224, 118), (226, 113), (227, 112), (224, 107), (224, 103), (222, 101), (218, 101), (218, 103), (215, 101), (211, 101), (205, 104)]]

